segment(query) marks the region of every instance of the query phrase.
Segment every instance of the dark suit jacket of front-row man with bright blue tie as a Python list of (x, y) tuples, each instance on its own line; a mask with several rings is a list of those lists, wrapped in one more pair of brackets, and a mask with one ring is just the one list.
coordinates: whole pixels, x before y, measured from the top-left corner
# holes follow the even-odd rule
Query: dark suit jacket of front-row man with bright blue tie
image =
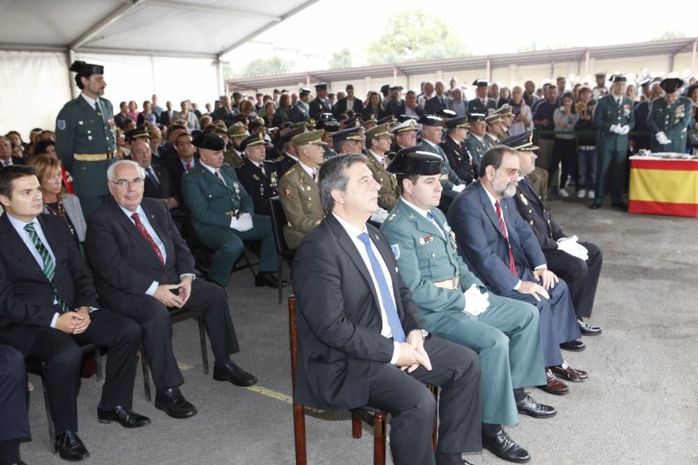
[[(370, 224), (366, 228), (389, 270), (405, 334), (424, 328), (385, 238)], [(369, 269), (334, 215), (298, 247), (292, 280), (299, 303), (296, 401), (320, 409), (366, 405), (371, 367), (389, 363), (394, 344), (380, 335), (378, 290)]]

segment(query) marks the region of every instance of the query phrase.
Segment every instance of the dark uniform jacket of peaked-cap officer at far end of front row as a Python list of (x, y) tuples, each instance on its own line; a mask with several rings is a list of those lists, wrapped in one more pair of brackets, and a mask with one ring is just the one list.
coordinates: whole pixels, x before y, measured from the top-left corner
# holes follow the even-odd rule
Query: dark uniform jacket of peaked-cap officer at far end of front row
[(517, 186), (517, 194), (514, 196), (519, 209), (519, 215), (528, 224), (535, 237), (538, 239), (543, 252), (558, 250), (558, 239), (567, 237), (563, 230), (553, 220), (553, 215), (548, 213), (550, 207), (543, 203), (528, 179), (523, 178)]

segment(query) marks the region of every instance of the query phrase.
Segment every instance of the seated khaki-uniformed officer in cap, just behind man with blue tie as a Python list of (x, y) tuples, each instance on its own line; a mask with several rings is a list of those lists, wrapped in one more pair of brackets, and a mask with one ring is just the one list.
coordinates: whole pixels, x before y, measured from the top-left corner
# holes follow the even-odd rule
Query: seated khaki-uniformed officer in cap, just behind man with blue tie
[(287, 220), (283, 238), (292, 249), (325, 218), (317, 183), (322, 146), (325, 145), (321, 136), (322, 130), (318, 130), (293, 137), (298, 162), (279, 179), (279, 199)]

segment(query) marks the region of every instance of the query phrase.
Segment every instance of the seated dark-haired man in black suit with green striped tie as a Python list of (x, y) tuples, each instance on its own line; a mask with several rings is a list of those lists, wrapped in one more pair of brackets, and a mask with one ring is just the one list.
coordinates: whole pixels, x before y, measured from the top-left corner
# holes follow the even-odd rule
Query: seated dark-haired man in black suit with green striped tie
[[(62, 459), (89, 457), (77, 436), (79, 344), (109, 348), (107, 376), (97, 407), (100, 422), (140, 427), (150, 420), (131, 411), (140, 330), (98, 310), (92, 276), (62, 218), (43, 215), (31, 167), (0, 170), (0, 344), (46, 363), (49, 406)], [(4, 419), (3, 419), (4, 422)]]

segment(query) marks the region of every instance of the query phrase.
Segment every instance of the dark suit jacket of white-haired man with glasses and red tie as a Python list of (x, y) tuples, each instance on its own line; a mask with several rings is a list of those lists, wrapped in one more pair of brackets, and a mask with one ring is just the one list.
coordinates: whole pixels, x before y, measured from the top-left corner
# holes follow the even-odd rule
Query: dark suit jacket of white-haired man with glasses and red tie
[(194, 273), (194, 258), (167, 206), (147, 198), (141, 206), (165, 244), (164, 269), (153, 247), (111, 197), (87, 218), (87, 256), (95, 270), (99, 298), (109, 307), (122, 307), (126, 298), (144, 296), (153, 281), (177, 284), (180, 275)]

